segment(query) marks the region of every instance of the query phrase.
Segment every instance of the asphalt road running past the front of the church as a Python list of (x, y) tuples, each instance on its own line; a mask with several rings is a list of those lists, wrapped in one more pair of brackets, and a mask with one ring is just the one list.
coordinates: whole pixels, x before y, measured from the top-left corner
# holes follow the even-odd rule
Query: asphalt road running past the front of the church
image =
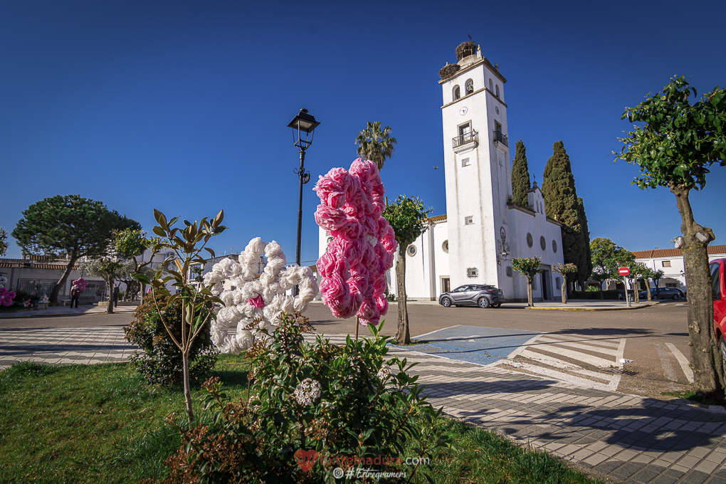
[[(413, 338), (455, 325), (470, 327), (515, 329), (547, 332), (555, 335), (575, 335), (583, 340), (625, 339), (624, 357), (635, 375), (624, 376), (618, 388), (624, 393), (658, 396), (664, 391), (688, 390), (688, 380), (666, 343), (690, 359), (687, 305), (661, 303), (650, 308), (632, 311), (544, 311), (518, 307), (502, 308), (444, 308), (440, 305), (407, 305), (410, 334)], [(383, 334), (396, 332), (396, 304), (388, 310), (388, 323)], [(322, 303), (312, 303), (306, 316), (318, 332), (354, 334), (354, 319), (335, 319)], [(126, 326), (131, 313), (58, 316), (33, 319), (3, 319), (2, 328), (23, 327), (83, 327)], [(362, 334), (367, 329), (360, 328)], [(534, 333), (533, 333), (534, 334)], [(425, 337), (423, 338), (425, 339)], [(415, 350), (415, 346), (412, 347)]]

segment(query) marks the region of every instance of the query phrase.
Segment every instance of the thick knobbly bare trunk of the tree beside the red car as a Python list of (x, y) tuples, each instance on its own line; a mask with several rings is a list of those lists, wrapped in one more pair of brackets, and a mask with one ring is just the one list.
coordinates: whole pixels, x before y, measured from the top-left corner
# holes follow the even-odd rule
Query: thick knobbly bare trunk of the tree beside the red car
[[(690, 187), (670, 185), (680, 213), (683, 243), (680, 247), (688, 281), (688, 334), (690, 335), (690, 366), (693, 368), (693, 390), (723, 396), (721, 356), (714, 337), (714, 307), (711, 298), (709, 255), (706, 246), (715, 239), (714, 232), (699, 225), (693, 218), (688, 200)], [(696, 234), (706, 235), (706, 240)]]

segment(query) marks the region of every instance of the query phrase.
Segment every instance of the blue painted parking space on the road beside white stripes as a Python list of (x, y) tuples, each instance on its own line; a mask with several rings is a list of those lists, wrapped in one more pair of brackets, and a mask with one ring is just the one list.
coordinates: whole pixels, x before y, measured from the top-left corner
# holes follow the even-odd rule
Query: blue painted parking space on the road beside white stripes
[(439, 329), (415, 338), (426, 343), (408, 348), (453, 360), (486, 365), (507, 358), (510, 353), (537, 335), (542, 335), (542, 332), (461, 325)]

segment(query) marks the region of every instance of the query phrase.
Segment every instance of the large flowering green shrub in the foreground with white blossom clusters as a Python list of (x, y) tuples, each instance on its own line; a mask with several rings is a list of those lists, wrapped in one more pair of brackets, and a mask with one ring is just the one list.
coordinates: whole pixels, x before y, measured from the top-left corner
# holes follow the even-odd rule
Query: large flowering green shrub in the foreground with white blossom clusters
[(200, 422), (168, 419), (182, 442), (165, 462), (166, 483), (335, 483), (336, 467), (411, 477), (417, 467), (401, 465), (407, 443), (417, 456), (449, 446), (441, 410), (406, 373), (413, 365), (386, 357), (388, 337), (370, 327), (370, 340), (337, 346), (317, 337), (311, 345), (305, 325), (285, 316), (268, 344), (248, 351), (246, 398), (232, 401), (212, 379), (203, 385)]

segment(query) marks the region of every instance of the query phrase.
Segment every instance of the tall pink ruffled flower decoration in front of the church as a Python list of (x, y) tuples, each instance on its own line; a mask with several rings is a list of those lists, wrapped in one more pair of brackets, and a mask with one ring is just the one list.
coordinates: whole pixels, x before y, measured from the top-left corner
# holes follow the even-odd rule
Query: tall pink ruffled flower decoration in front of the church
[(333, 240), (317, 261), (320, 293), (333, 316), (359, 316), (378, 324), (388, 311), (386, 271), (393, 266), (396, 239), (388, 221), (378, 166), (358, 158), (349, 170), (333, 168), (315, 185), (320, 205), (315, 221)]

